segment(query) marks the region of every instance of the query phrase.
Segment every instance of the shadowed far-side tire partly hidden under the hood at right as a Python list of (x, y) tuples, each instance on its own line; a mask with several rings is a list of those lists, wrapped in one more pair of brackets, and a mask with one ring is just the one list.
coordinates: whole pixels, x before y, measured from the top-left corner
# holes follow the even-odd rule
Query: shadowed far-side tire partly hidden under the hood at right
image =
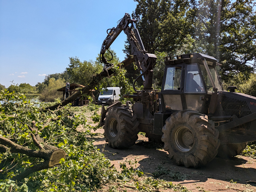
[(239, 155), (246, 148), (247, 142), (239, 144), (222, 144), (219, 147), (217, 157), (231, 158)]

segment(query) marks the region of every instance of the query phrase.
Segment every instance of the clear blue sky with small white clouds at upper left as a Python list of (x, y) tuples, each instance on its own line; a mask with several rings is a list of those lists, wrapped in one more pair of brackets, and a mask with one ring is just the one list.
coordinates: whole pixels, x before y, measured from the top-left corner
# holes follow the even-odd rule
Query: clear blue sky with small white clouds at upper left
[[(60, 73), (69, 57), (95, 60), (106, 30), (116, 27), (124, 13), (136, 8), (133, 0), (18, 1), (0, 0), (0, 83), (34, 86), (44, 74)], [(124, 59), (121, 33), (112, 44)]]

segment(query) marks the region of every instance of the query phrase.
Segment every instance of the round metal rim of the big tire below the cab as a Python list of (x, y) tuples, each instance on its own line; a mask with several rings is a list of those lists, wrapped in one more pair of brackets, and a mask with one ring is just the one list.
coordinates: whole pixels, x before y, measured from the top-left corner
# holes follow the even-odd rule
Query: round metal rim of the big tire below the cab
[(173, 132), (172, 140), (181, 152), (188, 152), (193, 148), (194, 135), (186, 126), (179, 126)]

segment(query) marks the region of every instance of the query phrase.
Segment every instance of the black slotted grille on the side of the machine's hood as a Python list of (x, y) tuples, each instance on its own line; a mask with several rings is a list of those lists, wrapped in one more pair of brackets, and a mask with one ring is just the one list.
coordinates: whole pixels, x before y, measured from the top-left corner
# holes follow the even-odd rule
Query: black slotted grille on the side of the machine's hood
[[(238, 118), (250, 115), (248, 105), (245, 101), (220, 95), (220, 103), (217, 106), (216, 116), (229, 116), (236, 115)], [(236, 129), (249, 129), (251, 122), (235, 127)]]

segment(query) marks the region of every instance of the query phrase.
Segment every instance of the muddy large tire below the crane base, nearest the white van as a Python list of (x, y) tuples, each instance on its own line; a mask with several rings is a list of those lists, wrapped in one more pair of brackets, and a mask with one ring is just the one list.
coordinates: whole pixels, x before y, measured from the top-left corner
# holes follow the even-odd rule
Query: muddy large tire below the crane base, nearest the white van
[(118, 106), (109, 109), (104, 124), (106, 142), (114, 149), (125, 149), (138, 139), (139, 121), (129, 107)]

